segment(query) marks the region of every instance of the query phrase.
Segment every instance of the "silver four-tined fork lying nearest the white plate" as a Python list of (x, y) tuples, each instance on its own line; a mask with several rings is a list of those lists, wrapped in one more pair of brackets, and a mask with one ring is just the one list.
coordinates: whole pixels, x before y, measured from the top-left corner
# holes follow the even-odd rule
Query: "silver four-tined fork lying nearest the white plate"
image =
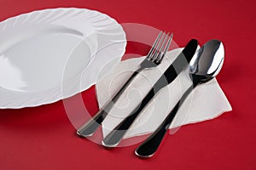
[(172, 42), (173, 34), (171, 34), (171, 36), (169, 35), (169, 32), (166, 33), (160, 31), (158, 37), (154, 41), (152, 48), (148, 52), (146, 59), (144, 59), (140, 64), (140, 68), (138, 68), (137, 71), (131, 75), (128, 81), (125, 82), (124, 86), (119, 90), (117, 94), (114, 95), (113, 99), (111, 99), (110, 102), (108, 102), (108, 104), (102, 108), (101, 111), (98, 111), (95, 116), (93, 116), (88, 122), (79, 128), (77, 131), (79, 136), (89, 137), (93, 135), (96, 132), (96, 129), (102, 124), (102, 121), (108, 115), (108, 112), (113, 107), (113, 104), (117, 101), (117, 99), (119, 99), (120, 94), (125, 91), (125, 88), (129, 86), (134, 77), (136, 77), (140, 71), (155, 67), (160, 64)]

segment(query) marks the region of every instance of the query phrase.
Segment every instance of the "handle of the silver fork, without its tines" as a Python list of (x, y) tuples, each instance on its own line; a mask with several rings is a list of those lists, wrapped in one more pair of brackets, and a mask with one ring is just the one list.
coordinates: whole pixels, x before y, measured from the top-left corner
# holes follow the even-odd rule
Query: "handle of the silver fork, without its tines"
[(108, 112), (113, 107), (113, 104), (119, 99), (120, 95), (123, 94), (125, 88), (129, 86), (133, 78), (136, 77), (137, 74), (142, 70), (142, 67), (138, 68), (137, 71), (135, 71), (131, 75), (131, 77), (125, 82), (123, 87), (119, 89), (119, 92), (113, 96), (113, 99), (111, 99), (107, 105), (103, 106), (102, 110), (98, 111), (95, 116), (90, 118), (88, 122), (86, 122), (84, 125), (82, 125), (82, 127), (79, 128), (79, 130), (77, 131), (79, 136), (89, 137), (96, 132), (96, 129), (100, 127), (103, 120), (106, 118), (106, 116), (108, 116)]

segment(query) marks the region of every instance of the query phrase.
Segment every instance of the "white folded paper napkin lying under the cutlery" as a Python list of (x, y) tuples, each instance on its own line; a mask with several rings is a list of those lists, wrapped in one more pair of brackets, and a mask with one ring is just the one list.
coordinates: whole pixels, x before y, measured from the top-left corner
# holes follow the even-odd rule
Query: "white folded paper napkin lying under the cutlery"
[[(141, 71), (135, 77), (129, 87), (126, 88), (124, 94), (117, 100), (112, 110), (109, 111), (104, 122), (102, 122), (104, 137), (136, 108), (143, 97), (148, 94), (150, 88), (154, 86), (154, 82), (172, 64), (172, 61), (176, 59), (182, 49), (177, 48), (167, 52), (160, 65), (153, 69)], [(96, 83), (96, 96), (100, 108), (112, 99), (113, 95), (131, 77), (131, 74), (137, 70), (143, 59), (145, 57), (121, 61), (108, 77)], [(148, 103), (137, 117), (137, 120), (131, 125), (124, 138), (154, 132), (191, 84), (189, 67), (187, 67), (172, 83), (162, 88), (155, 95), (154, 99)], [(231, 110), (228, 99), (226, 99), (224, 92), (214, 78), (210, 82), (199, 85), (189, 94), (177, 111), (177, 116), (174, 118), (170, 128), (206, 121)]]

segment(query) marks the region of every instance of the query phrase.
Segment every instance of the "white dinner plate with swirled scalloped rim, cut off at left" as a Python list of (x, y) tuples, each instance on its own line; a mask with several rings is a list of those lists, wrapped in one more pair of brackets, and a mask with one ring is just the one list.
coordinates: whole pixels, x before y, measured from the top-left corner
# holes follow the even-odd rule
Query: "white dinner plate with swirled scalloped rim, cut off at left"
[(105, 77), (125, 53), (125, 32), (106, 14), (53, 8), (0, 23), (0, 108), (53, 103)]

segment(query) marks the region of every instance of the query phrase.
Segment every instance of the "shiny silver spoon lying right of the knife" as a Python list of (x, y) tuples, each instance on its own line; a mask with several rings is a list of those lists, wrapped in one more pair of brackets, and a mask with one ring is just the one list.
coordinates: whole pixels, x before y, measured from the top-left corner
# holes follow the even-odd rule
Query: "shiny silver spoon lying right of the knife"
[(182, 98), (177, 102), (172, 111), (166, 116), (164, 122), (160, 124), (154, 133), (141, 144), (135, 154), (140, 157), (154, 156), (155, 151), (158, 149), (163, 137), (165, 136), (168, 128), (170, 127), (173, 118), (177, 114), (178, 108), (183, 104), (190, 92), (199, 84), (212, 80), (213, 77), (218, 75), (224, 63), (224, 46), (218, 40), (211, 40), (202, 46), (195, 56), (189, 62), (189, 76), (193, 81)]

